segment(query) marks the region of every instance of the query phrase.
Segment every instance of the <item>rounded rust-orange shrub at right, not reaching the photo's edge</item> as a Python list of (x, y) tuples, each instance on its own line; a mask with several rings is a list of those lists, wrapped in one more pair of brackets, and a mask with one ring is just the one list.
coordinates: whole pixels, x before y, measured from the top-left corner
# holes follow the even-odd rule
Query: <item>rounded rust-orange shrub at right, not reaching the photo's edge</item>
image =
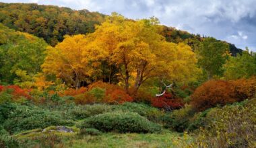
[(191, 95), (191, 104), (199, 111), (217, 105), (224, 106), (236, 102), (232, 93), (232, 83), (229, 81), (210, 80), (195, 89)]

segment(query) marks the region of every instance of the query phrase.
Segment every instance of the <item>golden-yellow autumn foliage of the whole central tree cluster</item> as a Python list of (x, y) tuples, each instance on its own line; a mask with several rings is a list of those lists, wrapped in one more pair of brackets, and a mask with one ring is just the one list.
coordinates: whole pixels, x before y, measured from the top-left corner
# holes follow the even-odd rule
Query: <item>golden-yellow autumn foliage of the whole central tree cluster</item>
[(193, 79), (199, 69), (191, 48), (166, 42), (154, 22), (135, 22), (113, 14), (94, 33), (65, 36), (55, 48), (49, 47), (43, 71), (77, 88), (83, 81), (91, 83), (115, 75), (129, 94), (136, 94), (141, 83), (152, 77)]

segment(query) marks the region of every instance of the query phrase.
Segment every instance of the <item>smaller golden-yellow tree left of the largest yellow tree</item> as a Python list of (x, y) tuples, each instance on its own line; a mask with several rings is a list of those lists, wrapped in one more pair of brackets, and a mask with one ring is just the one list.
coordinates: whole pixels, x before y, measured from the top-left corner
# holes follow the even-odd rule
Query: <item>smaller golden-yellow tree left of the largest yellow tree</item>
[(65, 36), (63, 42), (55, 48), (48, 47), (46, 59), (42, 65), (44, 73), (54, 74), (67, 85), (79, 88), (83, 81), (88, 81), (95, 71), (83, 62), (82, 51), (86, 44), (84, 35)]

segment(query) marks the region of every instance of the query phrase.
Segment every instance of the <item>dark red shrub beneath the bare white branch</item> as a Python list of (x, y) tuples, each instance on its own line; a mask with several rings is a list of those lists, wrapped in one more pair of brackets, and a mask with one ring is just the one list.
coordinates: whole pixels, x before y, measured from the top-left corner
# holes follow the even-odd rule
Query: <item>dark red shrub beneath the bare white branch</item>
[(151, 105), (156, 108), (165, 108), (165, 109), (179, 109), (184, 106), (183, 101), (179, 98), (173, 98), (172, 94), (165, 93), (163, 96), (153, 98)]

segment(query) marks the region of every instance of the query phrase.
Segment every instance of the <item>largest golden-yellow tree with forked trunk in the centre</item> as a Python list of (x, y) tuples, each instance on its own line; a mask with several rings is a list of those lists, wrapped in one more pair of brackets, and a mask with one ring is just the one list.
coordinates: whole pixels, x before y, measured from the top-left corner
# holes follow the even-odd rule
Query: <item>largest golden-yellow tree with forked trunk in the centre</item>
[[(131, 21), (113, 13), (87, 36), (84, 61), (115, 65), (127, 93), (136, 94), (141, 83), (152, 77), (171, 81), (195, 78), (197, 59), (185, 44), (166, 42), (158, 34), (157, 21)], [(131, 90), (131, 91), (129, 91)]]

